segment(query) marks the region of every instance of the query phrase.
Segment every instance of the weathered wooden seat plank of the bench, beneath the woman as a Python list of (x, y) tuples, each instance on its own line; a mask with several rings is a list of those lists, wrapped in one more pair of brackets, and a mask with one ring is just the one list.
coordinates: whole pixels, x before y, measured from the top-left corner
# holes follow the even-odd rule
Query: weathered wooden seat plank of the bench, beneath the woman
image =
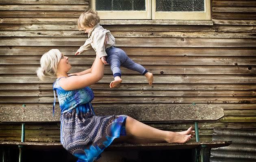
[[(189, 143), (116, 143), (107, 147), (106, 150), (119, 149), (193, 149), (205, 145), (208, 148), (217, 148), (228, 146), (232, 141), (206, 141), (206, 142), (189, 142)], [(0, 141), (0, 145), (17, 146), (23, 145), (26, 149), (59, 149), (63, 148), (61, 143), (37, 143), (37, 142), (13, 142)]]

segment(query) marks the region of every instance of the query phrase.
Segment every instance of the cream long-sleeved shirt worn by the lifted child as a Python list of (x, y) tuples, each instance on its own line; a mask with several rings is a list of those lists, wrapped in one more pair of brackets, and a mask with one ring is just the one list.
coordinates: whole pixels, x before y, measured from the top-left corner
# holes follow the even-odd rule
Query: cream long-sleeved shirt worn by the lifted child
[[(104, 46), (106, 35), (108, 36), (108, 42), (106, 46)], [(88, 32), (88, 39), (85, 41), (85, 44), (82, 45), (77, 51), (81, 53), (82, 51), (93, 48), (96, 52), (96, 55), (101, 58), (107, 55), (105, 50), (111, 46), (115, 46), (114, 36), (109, 30), (106, 30), (97, 24), (92, 28), (92, 30)]]

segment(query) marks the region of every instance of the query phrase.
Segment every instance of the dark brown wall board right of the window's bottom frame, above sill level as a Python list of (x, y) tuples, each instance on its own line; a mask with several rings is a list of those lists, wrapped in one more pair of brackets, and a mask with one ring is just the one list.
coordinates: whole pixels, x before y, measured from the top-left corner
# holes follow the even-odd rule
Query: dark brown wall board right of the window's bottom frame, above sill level
[(218, 13), (213, 12), (213, 19), (255, 19), (256, 13)]

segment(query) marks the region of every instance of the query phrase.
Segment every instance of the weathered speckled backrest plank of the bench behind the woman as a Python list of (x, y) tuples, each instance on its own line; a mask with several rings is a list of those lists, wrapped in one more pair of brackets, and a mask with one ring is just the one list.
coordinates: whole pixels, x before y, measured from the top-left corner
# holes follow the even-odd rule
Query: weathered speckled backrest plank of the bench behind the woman
[[(0, 122), (58, 122), (60, 111), (52, 116), (52, 107), (1, 107)], [(223, 108), (212, 105), (152, 105), (138, 107), (97, 107), (98, 115), (126, 114), (139, 121), (207, 121), (223, 117)], [(155, 115), (157, 114), (157, 115)], [(211, 115), (209, 115), (211, 114)]]

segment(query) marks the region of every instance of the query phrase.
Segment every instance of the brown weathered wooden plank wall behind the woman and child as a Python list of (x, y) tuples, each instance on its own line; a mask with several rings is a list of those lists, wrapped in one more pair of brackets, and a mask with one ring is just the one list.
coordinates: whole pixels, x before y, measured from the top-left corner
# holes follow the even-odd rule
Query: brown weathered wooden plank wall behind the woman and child
[[(94, 51), (74, 56), (86, 40), (78, 31), (88, 0), (1, 0), (0, 105), (52, 106), (52, 82), (39, 81), (41, 55), (57, 48), (69, 57), (71, 72), (89, 68)], [(154, 73), (154, 84), (122, 68), (123, 83), (110, 89), (109, 66), (92, 85), (93, 105), (215, 104), (225, 109), (217, 122), (199, 124), (201, 139), (213, 128), (256, 129), (256, 1), (213, 0), (213, 26), (104, 25), (118, 47)], [(148, 123), (181, 130), (192, 123)], [(20, 124), (0, 124), (0, 140), (20, 140)], [(59, 141), (59, 123), (28, 124), (26, 141)]]

